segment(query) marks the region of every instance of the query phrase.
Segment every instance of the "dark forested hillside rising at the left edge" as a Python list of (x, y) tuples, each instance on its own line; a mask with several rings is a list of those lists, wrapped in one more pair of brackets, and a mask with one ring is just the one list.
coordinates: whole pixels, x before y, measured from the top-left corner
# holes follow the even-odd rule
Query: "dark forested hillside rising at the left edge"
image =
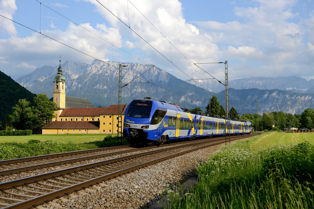
[(6, 114), (12, 113), (12, 107), (18, 103), (19, 99), (33, 102), (35, 96), (36, 94), (28, 91), (10, 76), (0, 71), (0, 121), (3, 121)]

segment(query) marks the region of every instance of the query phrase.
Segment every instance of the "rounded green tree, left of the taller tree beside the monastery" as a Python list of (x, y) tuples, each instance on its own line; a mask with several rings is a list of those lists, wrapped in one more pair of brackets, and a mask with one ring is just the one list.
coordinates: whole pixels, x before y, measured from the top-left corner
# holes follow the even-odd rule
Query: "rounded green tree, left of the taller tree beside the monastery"
[(34, 113), (30, 102), (26, 99), (19, 99), (19, 102), (12, 107), (12, 125), (19, 130), (33, 129)]

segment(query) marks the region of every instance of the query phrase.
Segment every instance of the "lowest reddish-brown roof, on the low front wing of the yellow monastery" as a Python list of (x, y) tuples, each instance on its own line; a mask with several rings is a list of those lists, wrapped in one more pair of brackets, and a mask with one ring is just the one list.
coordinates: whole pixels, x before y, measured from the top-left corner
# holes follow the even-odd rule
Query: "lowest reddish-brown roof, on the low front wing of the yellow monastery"
[(73, 128), (81, 128), (81, 129), (99, 129), (100, 122), (99, 121), (53, 121), (48, 125), (42, 127), (47, 129), (56, 129), (56, 128), (64, 128), (64, 129), (73, 129)]

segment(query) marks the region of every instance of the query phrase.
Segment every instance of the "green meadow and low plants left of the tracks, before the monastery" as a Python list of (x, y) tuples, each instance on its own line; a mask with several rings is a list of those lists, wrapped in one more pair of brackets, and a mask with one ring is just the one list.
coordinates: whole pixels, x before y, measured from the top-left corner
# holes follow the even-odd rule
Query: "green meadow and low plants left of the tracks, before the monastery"
[[(123, 139), (122, 143), (128, 144), (125, 139)], [(112, 147), (116, 145), (117, 135), (115, 134), (0, 136), (0, 160)]]

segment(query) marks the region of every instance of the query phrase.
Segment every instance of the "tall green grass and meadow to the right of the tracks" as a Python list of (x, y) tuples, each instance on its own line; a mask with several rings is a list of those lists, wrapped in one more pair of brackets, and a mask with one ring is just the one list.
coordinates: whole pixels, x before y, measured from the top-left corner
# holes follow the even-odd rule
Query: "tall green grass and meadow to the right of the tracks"
[(268, 133), (227, 144), (196, 166), (170, 208), (313, 208), (314, 133)]

